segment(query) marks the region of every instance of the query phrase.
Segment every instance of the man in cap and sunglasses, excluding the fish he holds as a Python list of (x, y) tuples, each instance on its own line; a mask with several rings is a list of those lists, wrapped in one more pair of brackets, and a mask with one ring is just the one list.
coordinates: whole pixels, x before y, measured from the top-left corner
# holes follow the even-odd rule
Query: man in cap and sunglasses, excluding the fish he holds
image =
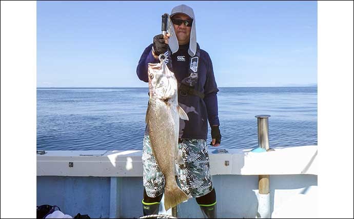
[[(179, 105), (189, 117), (189, 121), (180, 120), (178, 147), (185, 161), (183, 165), (176, 164), (180, 185), (188, 197), (196, 198), (205, 218), (216, 218), (217, 201), (209, 172), (206, 139), (208, 120), (212, 137), (210, 145), (217, 147), (221, 142), (219, 89), (209, 54), (196, 43), (193, 9), (186, 5), (176, 6), (170, 18), (174, 36), (154, 36), (153, 44), (145, 49), (140, 58), (136, 73), (142, 81), (148, 82), (148, 63), (159, 63), (161, 53), (169, 54), (167, 66), (174, 72), (179, 84)], [(178, 44), (172, 45), (173, 40)], [(143, 166), (143, 212), (144, 215), (158, 214), (165, 179), (151, 151), (148, 126), (144, 136)]]

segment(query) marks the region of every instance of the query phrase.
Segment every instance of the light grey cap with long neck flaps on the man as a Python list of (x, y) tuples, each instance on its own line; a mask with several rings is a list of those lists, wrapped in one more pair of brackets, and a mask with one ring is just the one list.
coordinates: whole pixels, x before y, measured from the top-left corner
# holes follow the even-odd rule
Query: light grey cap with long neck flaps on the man
[[(192, 28), (190, 31), (188, 54), (190, 56), (194, 56), (196, 53), (196, 34), (195, 34), (195, 17), (194, 17), (193, 9), (187, 5), (176, 6), (172, 9), (170, 17), (172, 17), (174, 14), (177, 14), (177, 13), (186, 14), (190, 18), (193, 19)], [(178, 39), (176, 37), (176, 34), (174, 33), (174, 30), (173, 30), (172, 36), (169, 39), (168, 45), (169, 45), (172, 53), (177, 52), (179, 49)]]

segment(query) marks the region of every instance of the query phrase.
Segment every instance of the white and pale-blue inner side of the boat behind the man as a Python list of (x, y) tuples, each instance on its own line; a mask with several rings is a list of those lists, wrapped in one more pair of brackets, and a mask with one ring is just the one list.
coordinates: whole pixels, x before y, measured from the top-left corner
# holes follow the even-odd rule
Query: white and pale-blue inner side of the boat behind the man
[[(279, 147), (254, 153), (209, 150), (219, 218), (256, 218), (258, 175), (270, 175), (272, 218), (317, 216), (318, 146)], [(142, 151), (46, 151), (37, 155), (37, 205), (91, 218), (143, 215)], [(192, 198), (177, 207), (180, 218), (203, 218)], [(165, 211), (163, 200), (160, 214)]]

